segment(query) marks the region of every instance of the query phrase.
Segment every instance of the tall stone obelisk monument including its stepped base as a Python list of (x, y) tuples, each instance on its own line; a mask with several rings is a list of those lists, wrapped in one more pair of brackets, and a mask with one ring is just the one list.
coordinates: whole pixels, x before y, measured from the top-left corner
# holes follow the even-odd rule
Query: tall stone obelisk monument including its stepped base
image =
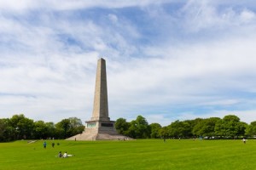
[(90, 121), (85, 122), (83, 133), (67, 140), (131, 139), (117, 133), (114, 121), (108, 116), (108, 88), (105, 59), (98, 59), (94, 105)]

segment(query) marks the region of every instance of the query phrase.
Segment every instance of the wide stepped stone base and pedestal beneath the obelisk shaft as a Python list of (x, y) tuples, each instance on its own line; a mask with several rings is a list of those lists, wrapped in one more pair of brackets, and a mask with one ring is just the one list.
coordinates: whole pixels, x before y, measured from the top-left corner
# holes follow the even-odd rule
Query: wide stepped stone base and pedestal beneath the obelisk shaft
[(87, 121), (83, 133), (66, 140), (130, 140), (130, 137), (117, 133), (113, 121)]

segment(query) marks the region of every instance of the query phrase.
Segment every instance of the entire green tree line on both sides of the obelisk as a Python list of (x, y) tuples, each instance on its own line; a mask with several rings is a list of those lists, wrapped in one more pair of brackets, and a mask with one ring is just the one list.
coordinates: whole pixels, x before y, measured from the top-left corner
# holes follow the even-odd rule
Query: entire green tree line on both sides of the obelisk
[[(137, 119), (131, 122), (126, 122), (125, 118), (119, 118), (115, 122), (115, 127), (120, 134), (133, 139), (237, 139), (256, 136), (256, 121), (247, 124), (241, 122), (235, 115), (224, 116), (222, 119), (210, 117), (177, 120), (164, 127), (157, 122), (148, 124), (145, 117), (137, 116)], [(83, 131), (84, 125), (77, 117), (63, 119), (57, 123), (34, 122), (23, 114), (0, 119), (0, 142), (18, 139), (67, 139)]]

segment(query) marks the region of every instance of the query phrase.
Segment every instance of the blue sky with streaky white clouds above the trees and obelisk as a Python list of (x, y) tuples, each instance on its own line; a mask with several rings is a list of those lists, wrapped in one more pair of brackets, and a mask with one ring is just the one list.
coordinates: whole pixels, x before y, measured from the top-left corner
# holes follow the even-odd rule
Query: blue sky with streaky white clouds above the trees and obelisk
[(0, 0), (0, 118), (92, 116), (106, 59), (111, 120), (256, 121), (256, 2)]

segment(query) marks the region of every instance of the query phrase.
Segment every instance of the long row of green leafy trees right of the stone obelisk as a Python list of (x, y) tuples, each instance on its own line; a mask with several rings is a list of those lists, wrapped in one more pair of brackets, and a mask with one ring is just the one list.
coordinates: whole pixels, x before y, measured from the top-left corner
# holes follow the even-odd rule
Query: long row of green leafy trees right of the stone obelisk
[(224, 116), (223, 119), (210, 117), (206, 119), (175, 121), (168, 126), (161, 127), (159, 123), (148, 124), (143, 116), (126, 122), (119, 118), (115, 122), (119, 133), (134, 139), (160, 138), (205, 138), (205, 139), (238, 139), (256, 135), (256, 121), (247, 124), (241, 122), (235, 115)]

